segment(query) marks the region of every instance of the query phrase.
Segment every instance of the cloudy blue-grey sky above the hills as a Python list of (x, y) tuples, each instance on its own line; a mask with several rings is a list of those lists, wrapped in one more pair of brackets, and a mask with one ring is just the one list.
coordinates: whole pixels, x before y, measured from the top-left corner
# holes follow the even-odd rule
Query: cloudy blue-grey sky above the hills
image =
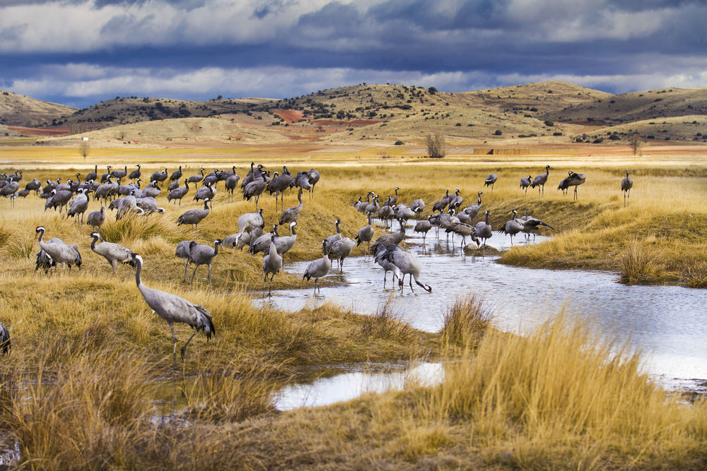
[(707, 85), (707, 0), (0, 0), (0, 88), (293, 97), (401, 83)]

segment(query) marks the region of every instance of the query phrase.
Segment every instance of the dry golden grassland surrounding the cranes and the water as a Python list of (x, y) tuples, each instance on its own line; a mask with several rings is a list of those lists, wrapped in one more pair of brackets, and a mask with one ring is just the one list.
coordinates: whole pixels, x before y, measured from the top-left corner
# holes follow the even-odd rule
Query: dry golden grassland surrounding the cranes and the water
[[(496, 172), (495, 189), (484, 194), (494, 228), (511, 209), (530, 208), (558, 229), (551, 242), (503, 254), (504, 263), (601, 268), (617, 270), (628, 282), (705, 285), (707, 166), (699, 152), (665, 158), (533, 155), (522, 162), (497, 156), (437, 162), (394, 152), (401, 154), (258, 157), (270, 169), (285, 163), (322, 174), (315, 198), (305, 195), (298, 242), (286, 259), (320, 256), (320, 241), (334, 232), (337, 217), (344, 235), (353, 237), (365, 220), (351, 203), (369, 189), (385, 196), (399, 186), (401, 201), (423, 198), (431, 208), (445, 189), (458, 188), (471, 202), (486, 174)], [(41, 162), (35, 150), (17, 155), (17, 165), (25, 168), (23, 183), (93, 169), (93, 162), (73, 161), (75, 150), (56, 163)], [(14, 168), (8, 152), (2, 157), (7, 169)], [(143, 162), (144, 174), (168, 161), (160, 155), (89, 160), (116, 167)], [(170, 172), (174, 162), (168, 163)], [(233, 162), (243, 177), (250, 157), (192, 155), (179, 162), (189, 162), (185, 175), (199, 165), (226, 168)], [(545, 162), (551, 165), (545, 198), (532, 190), (523, 196), (520, 177), (534, 177)], [(578, 189), (579, 201), (554, 189), (569, 169), (588, 177)], [(624, 169), (635, 182), (628, 208), (619, 191)], [(474, 298), (457, 302), (440, 333), (402, 325), (390, 306), (370, 317), (330, 305), (294, 314), (256, 309), (249, 293), (257, 296), (262, 286), (261, 258), (230, 250), (214, 259), (214, 290), (208, 290), (205, 267), (187, 287), (174, 256), (176, 242), (211, 243), (237, 232), (238, 215), (254, 210), (239, 198), (226, 203), (221, 186), (214, 212), (197, 232), (177, 228), (178, 215), (199, 207), (193, 193), (192, 188), (181, 210), (160, 196), (165, 215), (119, 222), (109, 215), (102, 230), (105, 239), (144, 256), (146, 285), (203, 302), (214, 315), (216, 337), (209, 343), (203, 335), (192, 340), (177, 372), (171, 369), (169, 330), (136, 290), (132, 268), (121, 266), (112, 277), (105, 260), (90, 251), (88, 227), (76, 229), (53, 211), (45, 213), (43, 200), (29, 196), (14, 210), (0, 201), (0, 259), (6, 267), (0, 311), (13, 338), (11, 356), (0, 359), (0, 433), (20, 440), (25, 467), (707, 465), (706, 403), (685, 405), (656, 388), (620, 342), (607, 345), (592, 326), (562, 314), (518, 338), (488, 328), (484, 300)], [(295, 203), (288, 193), (285, 206)], [(267, 227), (279, 213), (272, 197), (264, 196), (261, 204)], [(91, 210), (96, 207), (92, 203)], [(47, 239), (79, 246), (80, 272), (59, 269), (46, 277), (33, 271), (37, 225), (47, 227)], [(310, 294), (311, 286), (299, 277), (276, 275), (274, 291), (293, 286), (305, 286), (303, 295)], [(189, 335), (184, 326), (176, 330), (182, 342)], [(271, 402), (271, 391), (311, 374), (311, 367), (325, 372), (338, 363), (406, 359), (455, 361), (446, 366), (440, 386), (411, 381), (399, 393), (285, 413)], [(165, 382), (170, 393), (164, 392)], [(165, 395), (185, 404), (167, 422), (156, 415), (173, 412), (169, 398), (166, 404), (154, 402)]]

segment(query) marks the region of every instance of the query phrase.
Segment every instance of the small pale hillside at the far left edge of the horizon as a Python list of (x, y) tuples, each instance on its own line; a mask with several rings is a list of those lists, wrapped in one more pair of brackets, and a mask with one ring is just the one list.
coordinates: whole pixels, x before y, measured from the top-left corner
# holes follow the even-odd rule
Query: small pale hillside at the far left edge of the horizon
[(0, 124), (5, 126), (51, 126), (53, 120), (74, 111), (74, 107), (0, 90)]

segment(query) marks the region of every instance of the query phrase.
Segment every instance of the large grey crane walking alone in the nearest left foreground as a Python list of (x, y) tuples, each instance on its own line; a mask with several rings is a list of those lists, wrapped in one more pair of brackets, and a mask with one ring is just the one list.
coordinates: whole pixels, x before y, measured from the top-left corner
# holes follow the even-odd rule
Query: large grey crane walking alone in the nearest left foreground
[(199, 330), (204, 330), (206, 334), (206, 340), (211, 338), (211, 335), (216, 335), (216, 329), (214, 328), (214, 321), (211, 319), (211, 313), (204, 309), (204, 306), (197, 306), (192, 302), (187, 301), (176, 294), (168, 293), (165, 291), (154, 290), (153, 288), (146, 287), (143, 285), (140, 278), (140, 272), (142, 270), (142, 257), (139, 255), (134, 255), (133, 260), (136, 263), (135, 270), (135, 282), (137, 284), (137, 289), (139, 290), (145, 302), (152, 309), (153, 312), (157, 313), (158, 316), (163, 318), (168, 326), (170, 326), (170, 331), (172, 332), (172, 339), (174, 342), (173, 350), (173, 364), (176, 366), (177, 363), (177, 337), (175, 335), (174, 324), (185, 323), (196, 331), (189, 337), (189, 340), (182, 346), (181, 354), (182, 359), (184, 359), (185, 351), (187, 350), (187, 345), (192, 341), (194, 335), (199, 332)]

